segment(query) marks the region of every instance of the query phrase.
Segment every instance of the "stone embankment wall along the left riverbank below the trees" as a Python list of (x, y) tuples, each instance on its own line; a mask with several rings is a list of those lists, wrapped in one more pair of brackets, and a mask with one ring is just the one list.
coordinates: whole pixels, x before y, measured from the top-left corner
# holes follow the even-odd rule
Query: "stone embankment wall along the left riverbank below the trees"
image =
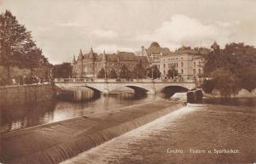
[(32, 84), (0, 87), (0, 106), (23, 105), (52, 99), (55, 91), (50, 84)]

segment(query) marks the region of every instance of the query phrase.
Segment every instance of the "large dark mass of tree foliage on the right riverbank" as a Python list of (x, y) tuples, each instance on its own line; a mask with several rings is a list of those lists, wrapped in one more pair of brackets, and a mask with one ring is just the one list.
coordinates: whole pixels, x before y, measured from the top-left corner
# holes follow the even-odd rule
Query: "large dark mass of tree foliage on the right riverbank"
[(211, 76), (222, 95), (236, 94), (241, 88), (256, 88), (256, 48), (230, 43), (205, 57), (204, 76)]

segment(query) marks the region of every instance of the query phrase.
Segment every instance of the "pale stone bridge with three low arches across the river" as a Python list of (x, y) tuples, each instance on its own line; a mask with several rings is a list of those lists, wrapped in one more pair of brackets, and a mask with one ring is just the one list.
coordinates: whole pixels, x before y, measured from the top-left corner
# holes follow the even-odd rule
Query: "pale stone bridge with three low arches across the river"
[(187, 88), (191, 90), (195, 88), (195, 82), (174, 82), (174, 81), (167, 81), (167, 80), (151, 80), (151, 79), (139, 79), (134, 81), (120, 81), (117, 82), (115, 79), (95, 79), (88, 80), (88, 79), (75, 79), (75, 78), (68, 78), (68, 79), (55, 79), (55, 86), (61, 89), (68, 89), (68, 88), (78, 88), (78, 87), (86, 87), (91, 88), (94, 91), (101, 92), (103, 94), (108, 94), (111, 91), (117, 88), (141, 88), (147, 91), (148, 94), (155, 94), (158, 91), (166, 87), (181, 87)]

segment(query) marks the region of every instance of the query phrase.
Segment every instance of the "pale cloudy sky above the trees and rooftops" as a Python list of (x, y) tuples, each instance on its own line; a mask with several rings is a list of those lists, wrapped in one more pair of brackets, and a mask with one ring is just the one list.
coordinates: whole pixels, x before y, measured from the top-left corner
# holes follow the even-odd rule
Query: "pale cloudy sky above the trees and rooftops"
[(138, 51), (156, 41), (171, 50), (217, 41), (256, 46), (254, 0), (0, 0), (26, 25), (53, 64), (81, 48)]

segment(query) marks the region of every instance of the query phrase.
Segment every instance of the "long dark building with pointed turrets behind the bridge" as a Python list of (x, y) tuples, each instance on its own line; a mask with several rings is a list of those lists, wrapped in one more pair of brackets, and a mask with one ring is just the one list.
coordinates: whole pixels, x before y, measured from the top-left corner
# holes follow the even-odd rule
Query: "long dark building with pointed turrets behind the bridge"
[(115, 71), (119, 74), (120, 68), (125, 65), (128, 70), (133, 71), (138, 62), (143, 64), (143, 67), (149, 66), (146, 56), (137, 56), (129, 52), (117, 52), (116, 54), (96, 54), (90, 48), (89, 54), (83, 54), (80, 50), (79, 56), (76, 59), (73, 57), (73, 76), (96, 78), (99, 71), (107, 70), (107, 76), (110, 71)]

